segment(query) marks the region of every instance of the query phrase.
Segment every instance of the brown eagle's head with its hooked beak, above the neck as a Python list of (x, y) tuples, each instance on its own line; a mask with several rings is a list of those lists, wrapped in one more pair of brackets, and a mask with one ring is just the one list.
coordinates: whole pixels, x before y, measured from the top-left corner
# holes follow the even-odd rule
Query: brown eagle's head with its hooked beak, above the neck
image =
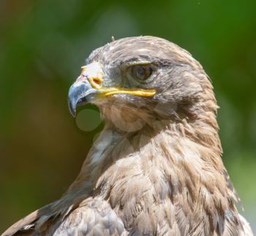
[(87, 102), (125, 131), (196, 119), (206, 107), (217, 109), (202, 66), (186, 50), (158, 37), (118, 39), (94, 50), (69, 89), (72, 115)]

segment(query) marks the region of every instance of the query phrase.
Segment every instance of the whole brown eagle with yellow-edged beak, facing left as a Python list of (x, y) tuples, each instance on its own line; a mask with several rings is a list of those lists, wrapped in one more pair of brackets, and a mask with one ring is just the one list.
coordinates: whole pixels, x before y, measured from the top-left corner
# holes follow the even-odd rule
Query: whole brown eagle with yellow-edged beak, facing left
[(217, 101), (203, 67), (158, 37), (94, 50), (69, 89), (105, 128), (56, 202), (3, 235), (252, 235), (222, 163)]

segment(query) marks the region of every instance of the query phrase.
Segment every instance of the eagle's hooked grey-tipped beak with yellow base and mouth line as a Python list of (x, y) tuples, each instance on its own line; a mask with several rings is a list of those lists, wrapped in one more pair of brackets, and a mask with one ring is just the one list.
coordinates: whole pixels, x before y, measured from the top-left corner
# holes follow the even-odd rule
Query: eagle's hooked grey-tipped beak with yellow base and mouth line
[(154, 94), (156, 94), (155, 89), (103, 87), (103, 75), (104, 73), (97, 62), (82, 66), (81, 75), (69, 88), (69, 110), (74, 117), (78, 105), (91, 102), (96, 99), (99, 94), (103, 96), (110, 96), (113, 94), (154, 96)]

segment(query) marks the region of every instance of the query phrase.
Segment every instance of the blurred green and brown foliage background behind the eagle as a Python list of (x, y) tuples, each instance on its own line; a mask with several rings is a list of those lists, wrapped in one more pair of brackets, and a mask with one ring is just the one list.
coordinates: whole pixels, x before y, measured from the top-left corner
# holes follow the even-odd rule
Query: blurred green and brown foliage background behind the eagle
[(223, 159), (255, 227), (255, 9), (255, 0), (1, 0), (0, 232), (77, 175), (102, 126), (81, 132), (67, 91), (112, 35), (164, 37), (203, 64), (221, 107)]

